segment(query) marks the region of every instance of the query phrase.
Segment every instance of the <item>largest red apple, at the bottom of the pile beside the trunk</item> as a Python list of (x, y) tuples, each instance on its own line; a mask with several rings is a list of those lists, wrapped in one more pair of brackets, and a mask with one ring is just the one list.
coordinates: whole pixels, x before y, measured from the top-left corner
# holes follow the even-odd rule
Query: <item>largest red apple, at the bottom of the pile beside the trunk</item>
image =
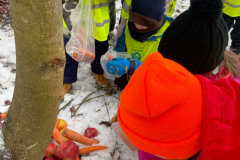
[(72, 140), (62, 142), (55, 150), (54, 156), (58, 160), (76, 160), (79, 147)]

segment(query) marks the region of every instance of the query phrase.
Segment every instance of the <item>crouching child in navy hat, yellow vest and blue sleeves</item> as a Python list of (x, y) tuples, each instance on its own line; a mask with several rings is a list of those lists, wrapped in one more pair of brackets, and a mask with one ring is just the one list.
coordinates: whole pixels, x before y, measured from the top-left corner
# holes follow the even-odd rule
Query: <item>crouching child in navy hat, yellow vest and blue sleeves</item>
[[(165, 1), (132, 0), (129, 20), (114, 50), (126, 50), (134, 60), (139, 61), (144, 61), (148, 54), (157, 51), (163, 33), (173, 20), (164, 15)], [(123, 89), (127, 78), (117, 79), (115, 83)]]

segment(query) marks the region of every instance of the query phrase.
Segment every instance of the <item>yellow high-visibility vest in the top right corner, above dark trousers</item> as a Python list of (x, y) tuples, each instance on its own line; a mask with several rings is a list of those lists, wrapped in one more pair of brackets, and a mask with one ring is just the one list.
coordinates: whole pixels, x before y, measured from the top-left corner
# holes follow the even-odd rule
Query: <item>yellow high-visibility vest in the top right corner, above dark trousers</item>
[(240, 16), (240, 0), (225, 0), (223, 13), (230, 17)]

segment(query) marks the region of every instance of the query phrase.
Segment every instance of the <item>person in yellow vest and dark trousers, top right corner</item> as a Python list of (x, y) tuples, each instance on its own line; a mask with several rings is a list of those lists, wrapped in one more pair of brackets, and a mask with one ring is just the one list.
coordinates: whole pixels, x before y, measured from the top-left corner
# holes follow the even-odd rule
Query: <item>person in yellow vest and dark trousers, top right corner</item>
[(240, 0), (223, 0), (223, 19), (227, 23), (228, 30), (231, 31), (232, 43), (230, 50), (235, 54), (240, 54)]

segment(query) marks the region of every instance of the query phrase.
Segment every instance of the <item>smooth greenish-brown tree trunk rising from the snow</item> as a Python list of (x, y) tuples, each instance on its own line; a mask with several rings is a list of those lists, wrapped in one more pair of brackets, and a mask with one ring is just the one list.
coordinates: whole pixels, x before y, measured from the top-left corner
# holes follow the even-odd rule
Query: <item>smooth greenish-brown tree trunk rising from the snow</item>
[(42, 160), (56, 122), (65, 54), (60, 0), (10, 0), (16, 83), (3, 124), (13, 160)]

